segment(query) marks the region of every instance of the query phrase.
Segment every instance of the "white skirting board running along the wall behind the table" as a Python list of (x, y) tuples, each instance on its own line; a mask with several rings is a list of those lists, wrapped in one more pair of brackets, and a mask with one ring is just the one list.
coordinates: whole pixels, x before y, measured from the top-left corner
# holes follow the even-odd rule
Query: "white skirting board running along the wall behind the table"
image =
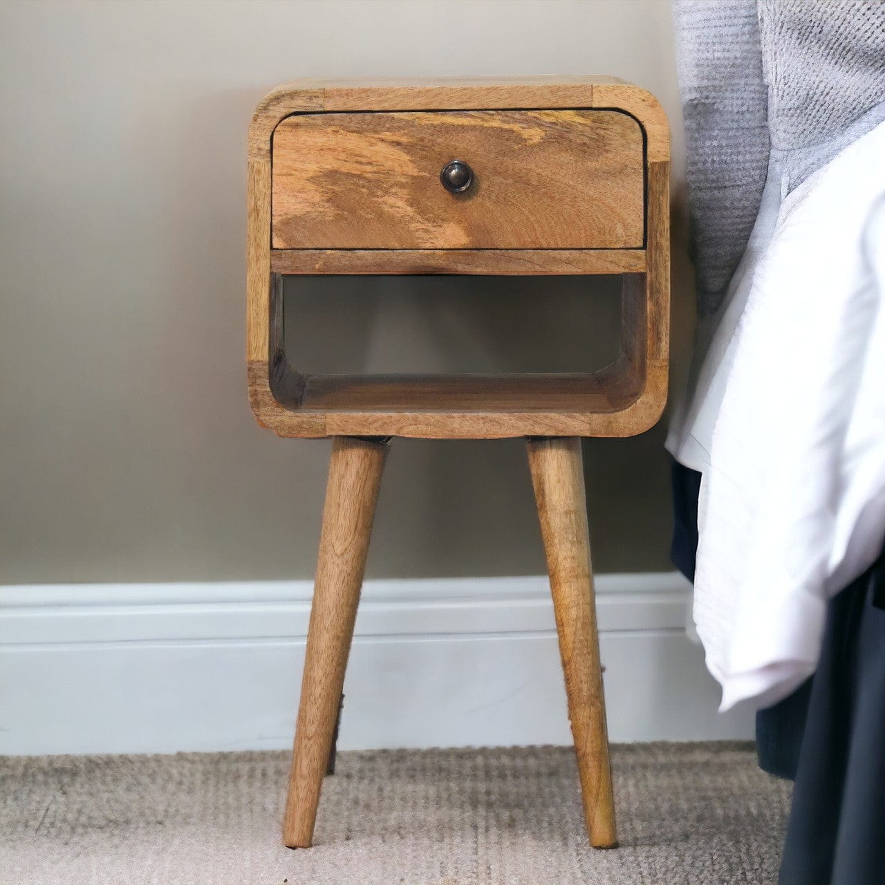
[[(0, 588), (0, 753), (292, 740), (310, 581)], [(676, 573), (596, 579), (612, 741), (752, 735), (720, 715)], [(571, 742), (546, 578), (366, 581), (339, 747)]]

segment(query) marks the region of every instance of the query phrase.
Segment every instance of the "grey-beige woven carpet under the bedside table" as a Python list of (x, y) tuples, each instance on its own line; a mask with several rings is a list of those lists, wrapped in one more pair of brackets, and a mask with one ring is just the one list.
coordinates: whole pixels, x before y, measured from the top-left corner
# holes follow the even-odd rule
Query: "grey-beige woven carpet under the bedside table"
[(0, 758), (0, 882), (766, 885), (791, 785), (747, 744), (613, 748), (621, 847), (589, 848), (573, 752), (339, 754), (316, 843), (280, 843), (288, 754)]

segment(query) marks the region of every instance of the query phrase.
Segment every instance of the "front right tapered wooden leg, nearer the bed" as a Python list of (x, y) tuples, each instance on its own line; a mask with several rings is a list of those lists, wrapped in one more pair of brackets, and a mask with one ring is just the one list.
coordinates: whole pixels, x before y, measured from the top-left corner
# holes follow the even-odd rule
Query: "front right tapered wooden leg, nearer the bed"
[(576, 437), (530, 439), (528, 464), (550, 572), (587, 832), (595, 848), (614, 848), (618, 839), (596, 633), (581, 440)]

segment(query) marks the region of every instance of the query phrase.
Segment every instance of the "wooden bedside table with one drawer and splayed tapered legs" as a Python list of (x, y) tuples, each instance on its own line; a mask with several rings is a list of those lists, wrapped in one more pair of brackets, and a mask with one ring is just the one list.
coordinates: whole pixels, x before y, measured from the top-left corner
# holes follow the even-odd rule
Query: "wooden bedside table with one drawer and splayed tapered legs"
[[(281, 436), (334, 437), (284, 842), (312, 842), (389, 439), (524, 436), (590, 843), (615, 835), (581, 436), (666, 401), (669, 129), (606, 77), (301, 81), (249, 133), (249, 395)], [(282, 343), (283, 274), (622, 275), (596, 373), (316, 375)]]

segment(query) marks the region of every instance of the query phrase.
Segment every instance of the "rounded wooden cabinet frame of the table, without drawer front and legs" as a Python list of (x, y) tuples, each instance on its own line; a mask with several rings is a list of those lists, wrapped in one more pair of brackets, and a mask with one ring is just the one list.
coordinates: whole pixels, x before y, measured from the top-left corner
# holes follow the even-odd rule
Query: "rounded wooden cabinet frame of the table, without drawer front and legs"
[[(498, 108), (620, 109), (643, 127), (644, 250), (271, 250), (271, 141), (291, 114), (323, 111), (471, 111)], [(669, 136), (657, 101), (612, 78), (507, 81), (303, 81), (259, 104), (249, 139), (247, 357), (258, 422), (283, 436), (404, 435), (492, 438), (626, 436), (658, 420), (666, 402), (669, 317)], [(444, 195), (449, 196), (449, 195)], [(543, 193), (536, 195), (540, 201)], [(387, 258), (387, 261), (384, 259)], [(623, 352), (601, 373), (564, 388), (554, 378), (366, 380), (312, 377), (289, 366), (274, 335), (278, 273), (622, 273)], [(290, 357), (291, 358), (291, 357)], [(296, 358), (296, 355), (295, 355)], [(515, 381), (524, 383), (521, 395)], [(404, 383), (415, 383), (412, 395)], [(473, 385), (472, 387), (470, 385)], [(477, 385), (479, 385), (477, 387)], [(497, 387), (495, 387), (497, 385)], [(574, 394), (569, 398), (570, 393)], [(543, 397), (550, 395), (544, 404)]]

